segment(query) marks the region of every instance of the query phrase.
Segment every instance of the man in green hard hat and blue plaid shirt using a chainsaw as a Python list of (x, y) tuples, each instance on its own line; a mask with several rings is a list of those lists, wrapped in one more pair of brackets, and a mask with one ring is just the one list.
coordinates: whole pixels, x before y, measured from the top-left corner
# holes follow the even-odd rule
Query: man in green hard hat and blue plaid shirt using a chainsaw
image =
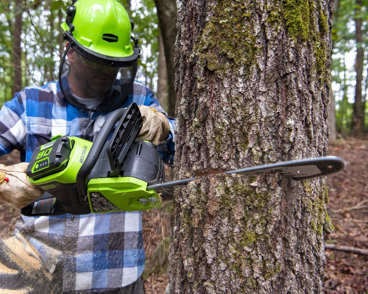
[[(21, 164), (0, 166), (0, 197), (18, 207), (42, 195), (25, 169), (33, 150), (61, 134), (91, 140), (111, 111), (137, 103), (139, 140), (171, 159), (173, 125), (135, 82), (138, 40), (115, 0), (79, 0), (67, 9), (68, 41), (59, 80), (26, 87), (0, 111), (0, 155), (21, 152)], [(141, 212), (26, 217), (0, 240), (0, 293), (144, 293)], [(8, 289), (8, 290), (5, 290)], [(15, 292), (14, 292), (15, 293)]]

